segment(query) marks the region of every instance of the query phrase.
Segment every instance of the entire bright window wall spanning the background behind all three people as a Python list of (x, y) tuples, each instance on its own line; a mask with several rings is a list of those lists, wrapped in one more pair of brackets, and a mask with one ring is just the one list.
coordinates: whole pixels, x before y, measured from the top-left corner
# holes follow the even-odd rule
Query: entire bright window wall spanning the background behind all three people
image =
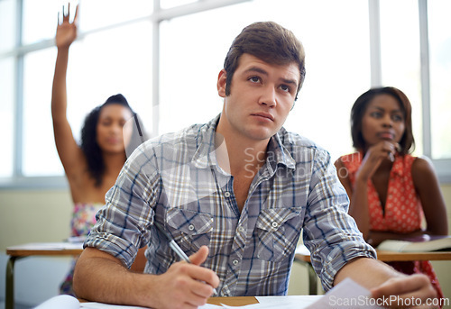
[[(50, 103), (62, 3), (20, 3), (0, 0), (0, 159), (7, 163), (0, 168), (1, 184), (20, 186), (16, 180), (22, 179), (37, 186), (42, 177), (61, 183)], [(72, 8), (77, 3), (71, 1)], [(397, 86), (413, 105), (416, 154), (433, 159), (441, 180), (449, 182), (450, 9), (447, 0), (81, 2), (79, 37), (69, 55), (69, 123), (78, 140), (85, 115), (117, 93), (153, 135), (207, 122), (222, 109), (216, 77), (230, 43), (245, 25), (272, 20), (293, 31), (307, 55), (288, 130), (336, 159), (353, 150), (349, 115), (357, 96), (372, 85)], [(374, 20), (378, 32), (370, 31)], [(18, 32), (11, 31), (16, 25)]]

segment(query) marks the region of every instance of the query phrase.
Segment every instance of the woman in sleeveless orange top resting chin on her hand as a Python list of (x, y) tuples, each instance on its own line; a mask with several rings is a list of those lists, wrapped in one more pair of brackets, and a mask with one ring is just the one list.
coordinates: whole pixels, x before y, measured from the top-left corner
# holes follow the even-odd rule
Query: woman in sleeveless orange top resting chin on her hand
[[(410, 155), (415, 142), (408, 97), (394, 87), (360, 95), (351, 112), (351, 133), (357, 152), (337, 159), (336, 170), (364, 239), (377, 247), (387, 239), (446, 235), (446, 205), (436, 173), (428, 159)], [(389, 264), (406, 274), (428, 275), (443, 297), (429, 261)]]

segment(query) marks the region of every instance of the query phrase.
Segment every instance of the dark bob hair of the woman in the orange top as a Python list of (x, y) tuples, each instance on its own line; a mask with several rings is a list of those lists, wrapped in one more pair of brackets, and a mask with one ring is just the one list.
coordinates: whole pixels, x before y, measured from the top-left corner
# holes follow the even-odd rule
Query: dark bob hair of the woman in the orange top
[(362, 135), (362, 120), (366, 112), (366, 108), (377, 95), (391, 95), (399, 103), (402, 113), (404, 114), (405, 130), (400, 139), (400, 153), (408, 154), (415, 149), (415, 140), (412, 132), (412, 106), (409, 98), (400, 89), (385, 86), (372, 88), (360, 95), (355, 101), (351, 110), (351, 135), (353, 138), (353, 146), (356, 150), (366, 150), (366, 142)]

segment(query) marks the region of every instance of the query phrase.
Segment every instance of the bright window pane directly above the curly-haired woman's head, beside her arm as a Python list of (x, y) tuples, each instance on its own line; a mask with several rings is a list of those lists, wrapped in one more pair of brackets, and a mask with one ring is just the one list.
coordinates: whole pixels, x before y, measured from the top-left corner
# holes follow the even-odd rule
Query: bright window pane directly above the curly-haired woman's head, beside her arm
[[(87, 35), (69, 55), (68, 113), (79, 140), (85, 115), (121, 93), (152, 130), (152, 23)], [(80, 90), (81, 89), (81, 90)]]

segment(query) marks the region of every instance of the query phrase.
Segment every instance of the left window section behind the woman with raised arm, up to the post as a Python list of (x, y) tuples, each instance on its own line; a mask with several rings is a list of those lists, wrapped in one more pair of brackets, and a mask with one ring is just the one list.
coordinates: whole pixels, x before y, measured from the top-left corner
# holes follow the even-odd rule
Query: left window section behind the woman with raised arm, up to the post
[[(53, 38), (61, 4), (24, 0), (22, 44), (15, 49), (0, 49), (9, 51), (5, 57), (0, 55), (0, 109), (5, 115), (0, 125), (3, 132), (14, 132), (15, 121), (20, 127), (20, 134), (6, 135), (7, 147), (1, 154), (9, 164), (2, 165), (0, 177), (4, 182), (16, 179), (13, 186), (23, 181), (32, 184), (27, 180), (33, 178), (41, 184), (42, 177), (49, 180), (64, 175), (51, 124), (51, 84), (57, 51)], [(73, 9), (76, 3), (71, 5)], [(13, 11), (14, 5), (9, 9)], [(80, 6), (79, 38), (70, 48), (68, 66), (68, 118), (77, 141), (86, 114), (117, 93), (127, 98), (135, 112), (146, 115), (142, 117), (144, 126), (152, 130), (151, 13), (149, 2), (144, 0), (133, 4), (96, 0)], [(99, 19), (99, 15), (108, 18)], [(0, 22), (0, 26), (3, 33), (10, 25)], [(19, 77), (17, 86), (14, 76)], [(55, 180), (55, 184), (64, 184)]]

